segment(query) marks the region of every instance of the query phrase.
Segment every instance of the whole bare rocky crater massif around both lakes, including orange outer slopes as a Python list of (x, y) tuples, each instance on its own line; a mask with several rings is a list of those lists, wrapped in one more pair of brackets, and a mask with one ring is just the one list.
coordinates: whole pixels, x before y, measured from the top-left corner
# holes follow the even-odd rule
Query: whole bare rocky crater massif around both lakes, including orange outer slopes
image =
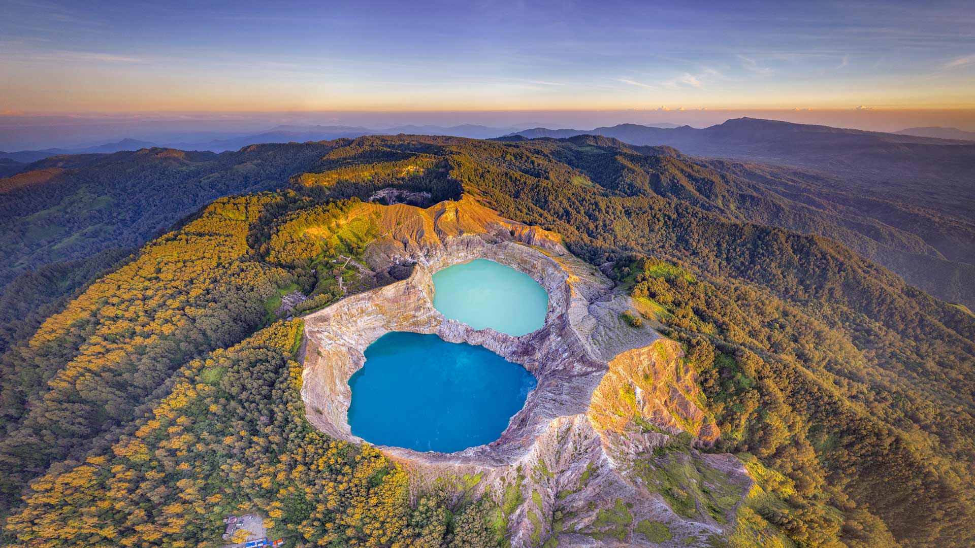
[[(686, 545), (703, 545), (734, 523), (754, 482), (735, 456), (692, 449), (710, 447), (719, 432), (701, 409), (680, 344), (627, 324), (622, 313), (631, 297), (569, 254), (558, 235), (503, 219), (469, 196), (426, 210), (364, 204), (350, 215), (344, 222), (373, 215), (386, 228), (366, 253), (371, 269), (409, 263), (412, 273), (305, 317), (301, 394), (312, 424), (361, 443), (347, 422), (347, 381), (363, 367), (366, 347), (389, 332), (436, 333), (523, 365), (538, 386), (500, 439), (485, 446), (449, 454), (381, 447), (410, 472), (415, 490), (450, 478), (472, 484), (468, 496), (501, 505), (514, 546), (546, 538), (559, 546), (655, 545), (659, 538), (641, 532), (650, 523), (666, 523)], [(525, 272), (546, 289), (542, 329), (474, 331), (433, 307), (432, 274), (475, 258)], [(675, 447), (679, 435), (683, 446), (672, 460), (653, 463), (654, 451)], [(656, 494), (662, 486), (653, 473), (667, 466), (702, 475), (700, 496), (685, 493), (689, 505), (684, 499), (673, 508)]]

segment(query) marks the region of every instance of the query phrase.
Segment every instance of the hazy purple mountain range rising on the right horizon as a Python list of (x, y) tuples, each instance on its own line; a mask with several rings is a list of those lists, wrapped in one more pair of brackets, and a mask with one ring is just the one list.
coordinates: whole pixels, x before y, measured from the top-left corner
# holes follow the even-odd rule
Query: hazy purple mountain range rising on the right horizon
[(946, 196), (956, 196), (967, 208), (959, 210), (958, 215), (965, 215), (964, 212), (975, 207), (971, 188), (971, 181), (975, 180), (975, 142), (969, 140), (756, 118), (735, 118), (704, 129), (637, 124), (593, 130), (535, 128), (498, 138), (565, 138), (585, 134), (612, 137), (635, 145), (673, 146), (692, 156), (749, 160), (849, 177), (869, 192), (882, 192), (883, 184), (897, 181), (912, 186), (918, 203), (933, 201), (944, 205)]

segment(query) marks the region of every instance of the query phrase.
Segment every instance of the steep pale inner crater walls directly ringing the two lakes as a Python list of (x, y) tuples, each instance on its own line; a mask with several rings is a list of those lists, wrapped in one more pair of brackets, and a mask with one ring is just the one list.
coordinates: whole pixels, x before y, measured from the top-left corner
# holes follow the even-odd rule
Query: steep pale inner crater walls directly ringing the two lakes
[[(363, 441), (352, 435), (348, 425), (348, 379), (365, 364), (366, 347), (394, 331), (435, 333), (449, 342), (484, 346), (532, 372), (538, 386), (529, 393), (525, 408), (512, 418), (501, 438), (487, 446), (450, 456), (383, 448), (388, 452), (422, 460), (510, 463), (524, 454), (552, 419), (586, 411), (606, 366), (593, 358), (581, 336), (571, 329), (569, 312), (588, 303), (573, 292), (567, 283), (570, 273), (556, 258), (524, 244), (492, 244), (475, 235), (450, 238), (443, 247), (416, 258), (407, 280), (352, 295), (305, 318), (308, 346), (302, 396), (312, 424), (331, 436)], [(549, 306), (542, 329), (520, 337), (490, 329), (475, 331), (445, 318), (433, 307), (433, 274), (475, 258), (487, 258), (526, 272), (545, 288)], [(607, 291), (609, 287), (606, 281), (602, 289)]]

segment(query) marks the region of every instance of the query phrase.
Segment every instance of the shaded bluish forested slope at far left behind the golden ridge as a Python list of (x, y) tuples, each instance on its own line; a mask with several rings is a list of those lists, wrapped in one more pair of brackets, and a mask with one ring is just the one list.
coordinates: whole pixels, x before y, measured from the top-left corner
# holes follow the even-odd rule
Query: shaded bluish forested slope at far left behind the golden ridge
[(334, 143), (262, 144), (236, 152), (54, 156), (0, 179), (0, 288), (20, 272), (135, 248), (215, 198), (279, 188)]

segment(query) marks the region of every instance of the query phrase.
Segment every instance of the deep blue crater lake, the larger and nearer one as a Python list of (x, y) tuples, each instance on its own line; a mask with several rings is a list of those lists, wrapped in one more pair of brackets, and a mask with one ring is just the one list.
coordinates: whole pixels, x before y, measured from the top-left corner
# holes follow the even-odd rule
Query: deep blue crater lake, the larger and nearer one
[(370, 444), (454, 452), (497, 440), (535, 377), (481, 346), (386, 333), (349, 378), (352, 433)]

